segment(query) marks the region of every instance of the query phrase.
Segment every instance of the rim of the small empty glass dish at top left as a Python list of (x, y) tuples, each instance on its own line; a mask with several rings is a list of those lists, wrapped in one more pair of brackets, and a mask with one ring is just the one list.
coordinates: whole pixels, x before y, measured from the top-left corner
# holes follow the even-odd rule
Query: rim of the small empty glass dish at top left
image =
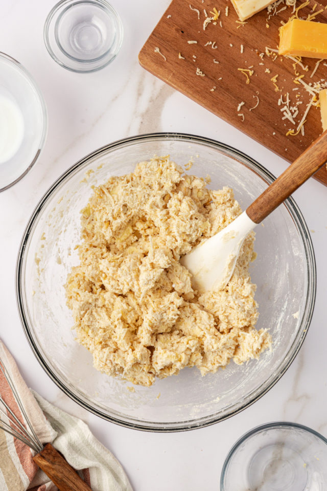
[[(94, 58), (91, 60), (81, 60), (79, 58), (69, 56), (66, 52), (63, 51), (63, 53), (65, 54), (65, 56), (67, 58), (69, 58), (73, 62), (76, 62), (76, 63), (81, 65), (80, 68), (73, 68), (69, 64), (61, 61), (61, 59), (58, 58), (58, 56), (55, 54), (54, 50), (52, 49), (52, 44), (50, 42), (49, 30), (50, 30), (50, 26), (51, 26), (52, 21), (55, 19), (55, 16), (58, 13), (60, 13), (60, 10), (62, 8), (64, 8), (66, 6), (66, 9), (67, 9), (69, 7), (69, 4), (73, 4), (72, 6), (74, 6), (74, 5), (83, 4), (83, 3), (90, 3), (90, 4), (95, 4), (95, 5), (99, 4), (103, 8), (103, 10), (105, 10), (106, 12), (109, 12), (111, 15), (113, 15), (115, 22), (117, 24), (117, 28), (118, 28), (116, 31), (116, 36), (118, 36), (118, 44), (117, 44), (117, 47), (115, 49), (115, 52), (111, 56), (109, 56), (108, 58), (106, 58), (108, 56), (108, 52), (105, 52), (97, 58)], [(54, 27), (54, 29), (55, 29), (55, 27)], [(45, 48), (48, 51), (48, 53), (50, 54), (51, 58), (54, 61), (56, 61), (56, 63), (58, 63), (60, 66), (65, 68), (66, 70), (69, 70), (70, 72), (75, 72), (75, 73), (93, 73), (93, 72), (98, 72), (99, 70), (102, 70), (103, 68), (105, 68), (105, 66), (107, 66), (109, 63), (111, 63), (116, 58), (118, 53), (120, 52), (120, 49), (121, 49), (122, 44), (123, 44), (123, 37), (124, 37), (124, 27), (123, 27), (122, 19), (121, 19), (120, 15), (118, 14), (118, 12), (112, 7), (112, 5), (109, 4), (109, 2), (107, 2), (107, 0), (60, 0), (60, 2), (58, 2), (51, 9), (49, 14), (46, 16), (44, 27), (43, 27), (43, 40), (44, 40)], [(92, 66), (89, 66), (89, 68), (87, 68), (88, 65), (93, 65), (94, 63), (100, 62), (101, 60), (103, 61), (103, 63), (100, 63), (98, 66), (95, 66), (93, 68), (92, 68)], [(82, 68), (82, 66), (83, 66), (83, 68)]]

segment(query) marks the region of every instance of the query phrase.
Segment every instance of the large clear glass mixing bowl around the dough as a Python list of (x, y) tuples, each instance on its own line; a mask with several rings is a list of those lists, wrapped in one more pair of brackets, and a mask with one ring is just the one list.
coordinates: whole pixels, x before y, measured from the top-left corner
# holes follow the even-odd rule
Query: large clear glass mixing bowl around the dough
[(256, 327), (269, 329), (272, 350), (260, 359), (204, 377), (196, 368), (134, 386), (98, 372), (91, 354), (75, 341), (64, 283), (78, 264), (80, 210), (91, 186), (133, 171), (154, 154), (170, 154), (188, 171), (211, 177), (213, 189), (228, 185), (245, 209), (273, 180), (244, 153), (214, 140), (179, 133), (154, 133), (106, 145), (68, 169), (45, 193), (22, 238), (16, 269), (19, 313), (28, 341), (44, 370), (77, 403), (120, 425), (151, 431), (180, 431), (210, 425), (259, 399), (283, 375), (306, 336), (315, 299), (315, 261), (309, 232), (292, 198), (256, 227), (258, 285)]

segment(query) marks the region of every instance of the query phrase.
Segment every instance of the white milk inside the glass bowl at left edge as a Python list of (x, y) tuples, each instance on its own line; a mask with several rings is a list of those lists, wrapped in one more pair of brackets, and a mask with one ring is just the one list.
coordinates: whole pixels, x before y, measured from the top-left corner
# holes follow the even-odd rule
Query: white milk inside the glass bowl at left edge
[(24, 118), (16, 102), (0, 94), (0, 164), (10, 160), (24, 138)]

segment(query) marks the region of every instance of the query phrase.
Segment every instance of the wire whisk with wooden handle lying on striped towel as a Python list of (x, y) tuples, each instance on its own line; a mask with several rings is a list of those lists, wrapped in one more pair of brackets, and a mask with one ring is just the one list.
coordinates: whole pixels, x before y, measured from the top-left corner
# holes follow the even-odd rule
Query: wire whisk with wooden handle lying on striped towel
[[(25, 425), (14, 414), (0, 395), (0, 429), (28, 445), (36, 452), (34, 462), (54, 482), (60, 491), (91, 491), (91, 488), (79, 477), (65, 458), (51, 445), (42, 445), (37, 437), (24, 406), (15, 389), (8, 370), (0, 359), (0, 370), (13, 393), (17, 406), (25, 420)], [(1, 375), (1, 373), (0, 373)]]

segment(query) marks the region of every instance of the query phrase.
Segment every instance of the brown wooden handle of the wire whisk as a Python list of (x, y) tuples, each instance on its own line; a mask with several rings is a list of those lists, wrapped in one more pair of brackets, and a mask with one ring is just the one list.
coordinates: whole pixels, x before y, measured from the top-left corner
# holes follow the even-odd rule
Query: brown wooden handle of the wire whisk
[(33, 460), (60, 491), (91, 491), (91, 488), (50, 443), (47, 443)]

